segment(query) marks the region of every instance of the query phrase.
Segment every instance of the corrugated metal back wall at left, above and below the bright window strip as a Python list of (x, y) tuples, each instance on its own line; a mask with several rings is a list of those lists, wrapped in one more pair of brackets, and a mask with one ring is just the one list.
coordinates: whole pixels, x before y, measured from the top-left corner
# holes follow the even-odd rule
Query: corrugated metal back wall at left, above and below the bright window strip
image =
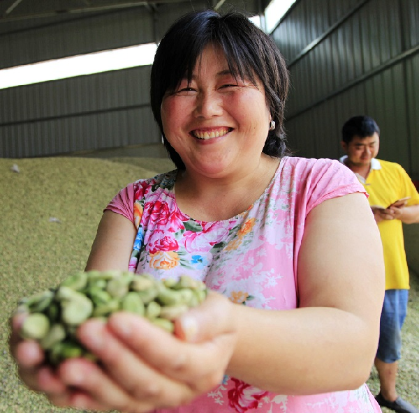
[[(145, 8), (17, 22), (0, 34), (1, 66), (150, 43), (152, 22)], [(159, 143), (148, 95), (149, 66), (0, 90), (0, 156)]]

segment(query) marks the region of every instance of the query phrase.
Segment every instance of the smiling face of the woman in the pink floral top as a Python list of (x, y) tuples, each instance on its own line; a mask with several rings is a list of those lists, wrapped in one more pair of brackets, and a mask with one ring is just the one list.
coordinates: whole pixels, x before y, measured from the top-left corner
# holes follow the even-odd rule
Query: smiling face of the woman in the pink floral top
[(258, 165), (271, 117), (263, 85), (236, 81), (223, 52), (209, 45), (191, 83), (183, 79), (163, 97), (161, 119), (186, 172), (226, 177)]

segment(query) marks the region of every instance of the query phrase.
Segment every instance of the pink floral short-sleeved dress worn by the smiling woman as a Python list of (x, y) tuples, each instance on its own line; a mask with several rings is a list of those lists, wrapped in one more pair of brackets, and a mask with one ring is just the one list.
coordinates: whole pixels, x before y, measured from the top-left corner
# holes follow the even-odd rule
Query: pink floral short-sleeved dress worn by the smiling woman
[[(138, 234), (130, 271), (156, 278), (188, 274), (244, 306), (288, 310), (298, 305), (297, 257), (307, 214), (324, 200), (365, 193), (337, 160), (283, 158), (263, 195), (247, 211), (215, 222), (179, 210), (176, 171), (140, 179), (107, 209), (133, 222)], [(381, 412), (364, 384), (355, 391), (286, 396), (224, 377), (191, 405), (157, 412)]]

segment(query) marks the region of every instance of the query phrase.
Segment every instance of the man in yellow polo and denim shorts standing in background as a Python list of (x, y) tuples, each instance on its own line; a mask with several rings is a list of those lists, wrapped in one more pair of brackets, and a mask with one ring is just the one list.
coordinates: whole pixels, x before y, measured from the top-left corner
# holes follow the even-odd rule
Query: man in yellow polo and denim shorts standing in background
[(419, 223), (419, 194), (402, 166), (376, 159), (380, 129), (371, 117), (348, 119), (342, 128), (346, 156), (339, 160), (355, 172), (369, 193), (369, 204), (383, 243), (385, 298), (380, 320), (380, 340), (374, 364), (380, 379), (376, 400), (401, 413), (419, 413), (397, 395), (397, 361), (401, 357), (401, 329), (409, 297), (409, 269), (404, 251), (402, 223)]

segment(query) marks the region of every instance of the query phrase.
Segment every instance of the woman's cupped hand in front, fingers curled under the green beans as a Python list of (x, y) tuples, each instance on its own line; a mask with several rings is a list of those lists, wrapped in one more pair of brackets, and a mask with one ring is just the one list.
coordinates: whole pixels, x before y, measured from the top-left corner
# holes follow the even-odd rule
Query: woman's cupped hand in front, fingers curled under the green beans
[(50, 400), (129, 413), (190, 403), (223, 378), (237, 340), (233, 306), (210, 292), (177, 320), (175, 335), (130, 313), (112, 315), (107, 324), (85, 322), (78, 337), (101, 363), (64, 361), (58, 376), (68, 390)]

